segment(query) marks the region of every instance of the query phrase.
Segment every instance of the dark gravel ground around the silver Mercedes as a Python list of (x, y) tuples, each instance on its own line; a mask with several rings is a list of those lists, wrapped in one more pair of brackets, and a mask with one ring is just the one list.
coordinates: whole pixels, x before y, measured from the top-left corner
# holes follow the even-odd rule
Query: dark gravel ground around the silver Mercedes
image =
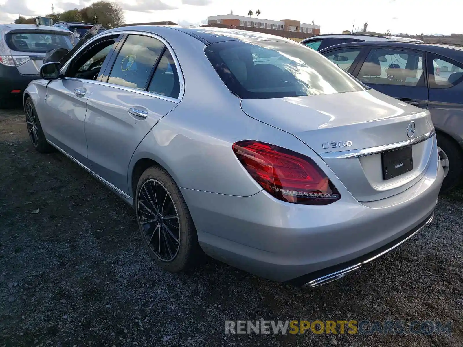
[[(400, 249), (301, 290), (206, 259), (162, 271), (134, 211), (0, 111), (0, 346), (463, 346), (463, 189)], [(23, 289), (19, 281), (39, 274)], [(225, 320), (440, 320), (451, 334), (225, 335)]]

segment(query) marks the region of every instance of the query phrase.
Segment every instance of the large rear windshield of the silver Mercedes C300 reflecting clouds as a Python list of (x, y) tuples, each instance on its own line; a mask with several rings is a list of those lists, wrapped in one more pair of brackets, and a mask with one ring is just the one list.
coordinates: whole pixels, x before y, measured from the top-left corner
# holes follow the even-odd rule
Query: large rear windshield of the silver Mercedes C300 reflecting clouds
[(241, 99), (365, 90), (349, 74), (299, 43), (225, 41), (208, 45), (206, 56), (228, 89)]

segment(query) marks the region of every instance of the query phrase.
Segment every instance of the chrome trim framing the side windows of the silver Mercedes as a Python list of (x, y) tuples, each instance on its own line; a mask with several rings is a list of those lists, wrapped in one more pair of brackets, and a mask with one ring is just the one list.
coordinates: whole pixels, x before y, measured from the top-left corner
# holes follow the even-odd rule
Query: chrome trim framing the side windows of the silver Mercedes
[[(155, 97), (159, 97), (161, 96), (160, 99), (164, 99), (164, 98), (167, 98), (168, 101), (173, 101), (173, 100), (177, 100), (177, 101), (174, 101), (176, 102), (177, 104), (181, 101), (181, 99), (183, 98), (183, 95), (185, 94), (185, 78), (183, 76), (183, 71), (181, 70), (181, 66), (180, 66), (180, 63), (178, 62), (178, 59), (177, 59), (177, 56), (174, 52), (174, 49), (172, 48), (172, 46), (161, 36), (157, 35), (157, 34), (154, 34), (152, 32), (146, 32), (146, 31), (137, 31), (137, 30), (121, 30), (121, 31), (112, 31), (112, 32), (103, 32), (103, 33), (100, 33), (98, 35), (96, 35), (95, 37), (91, 38), (87, 43), (85, 43), (81, 48), (79, 48), (79, 50), (77, 50), (77, 52), (74, 53), (73, 56), (70, 57), (70, 59), (64, 63), (63, 67), (61, 68), (62, 70), (64, 70), (65, 68), (67, 68), (70, 64), (71, 61), (74, 60), (74, 58), (81, 53), (82, 50), (86, 49), (87, 47), (89, 47), (89, 45), (91, 45), (94, 41), (96, 40), (99, 40), (100, 38), (102, 37), (106, 37), (106, 36), (113, 36), (113, 35), (142, 35), (142, 36), (148, 36), (148, 37), (152, 37), (152, 38), (155, 38), (156, 40), (159, 40), (161, 41), (166, 47), (167, 49), (169, 50), (170, 54), (172, 55), (172, 57), (174, 58), (174, 62), (175, 62), (175, 68), (177, 68), (177, 75), (178, 75), (178, 78), (179, 78), (179, 82), (180, 82), (180, 92), (178, 94), (178, 98), (170, 98), (170, 97), (167, 97), (167, 96), (163, 96), (163, 95), (159, 95), (159, 94), (156, 94), (156, 93), (150, 93), (150, 92), (146, 92), (146, 91), (140, 91), (138, 89), (135, 89), (135, 88), (129, 88), (129, 87), (123, 87), (125, 90), (130, 90), (132, 92), (145, 92), (145, 93), (148, 93), (146, 95), (149, 95), (149, 96), (155, 96)], [(68, 77), (67, 79), (75, 79), (74, 77)], [(75, 80), (78, 80), (78, 81), (93, 81), (93, 80), (84, 80), (84, 79), (75, 79)], [(101, 83), (105, 83), (105, 82), (101, 82)], [(122, 87), (122, 86), (119, 86), (117, 84), (113, 84), (113, 83), (107, 83), (111, 86), (116, 86), (116, 87)]]

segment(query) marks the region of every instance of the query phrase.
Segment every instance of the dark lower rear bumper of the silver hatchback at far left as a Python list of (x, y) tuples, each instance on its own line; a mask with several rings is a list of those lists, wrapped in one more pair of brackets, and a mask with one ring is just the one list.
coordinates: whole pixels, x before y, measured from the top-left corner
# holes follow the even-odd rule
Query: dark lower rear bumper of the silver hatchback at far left
[[(0, 64), (0, 98), (22, 98), (24, 90), (33, 80), (40, 79), (39, 75), (20, 74), (16, 66), (5, 66)], [(19, 93), (11, 93), (12, 90), (19, 90)]]

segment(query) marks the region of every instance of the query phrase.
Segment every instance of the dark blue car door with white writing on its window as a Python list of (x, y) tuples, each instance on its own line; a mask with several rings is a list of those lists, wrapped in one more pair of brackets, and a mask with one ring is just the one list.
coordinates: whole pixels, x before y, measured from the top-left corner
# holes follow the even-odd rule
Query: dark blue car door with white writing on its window
[(423, 52), (396, 47), (373, 47), (352, 72), (381, 93), (426, 108), (428, 87)]

